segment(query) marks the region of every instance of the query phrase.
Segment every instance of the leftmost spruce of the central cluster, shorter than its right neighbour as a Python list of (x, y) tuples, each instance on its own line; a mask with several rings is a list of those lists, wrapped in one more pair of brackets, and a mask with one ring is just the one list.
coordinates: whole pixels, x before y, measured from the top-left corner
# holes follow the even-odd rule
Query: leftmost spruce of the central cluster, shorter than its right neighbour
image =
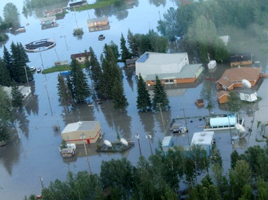
[(60, 102), (60, 106), (64, 106), (65, 111), (69, 110), (69, 106), (73, 104), (73, 96), (71, 91), (64, 81), (64, 78), (58, 74), (58, 100)]

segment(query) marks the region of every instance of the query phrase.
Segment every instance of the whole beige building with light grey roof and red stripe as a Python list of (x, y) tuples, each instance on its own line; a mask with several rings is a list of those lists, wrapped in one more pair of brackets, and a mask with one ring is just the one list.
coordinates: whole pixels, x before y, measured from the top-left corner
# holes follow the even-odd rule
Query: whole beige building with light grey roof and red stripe
[[(85, 143), (95, 143), (101, 133), (99, 121), (82, 121), (67, 124), (62, 130), (62, 139), (66, 143), (75, 143), (76, 145)], [(84, 137), (84, 138), (83, 138)]]

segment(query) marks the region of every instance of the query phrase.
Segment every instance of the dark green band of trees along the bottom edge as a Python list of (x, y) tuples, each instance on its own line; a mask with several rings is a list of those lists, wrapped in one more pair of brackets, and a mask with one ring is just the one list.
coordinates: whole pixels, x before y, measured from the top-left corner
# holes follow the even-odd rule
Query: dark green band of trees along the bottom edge
[(156, 149), (136, 166), (122, 158), (102, 161), (99, 175), (69, 171), (66, 181), (42, 189), (42, 199), (268, 199), (267, 159), (267, 145), (249, 147), (241, 155), (234, 150), (229, 173), (223, 174), (215, 147), (210, 157), (199, 146), (166, 153)]

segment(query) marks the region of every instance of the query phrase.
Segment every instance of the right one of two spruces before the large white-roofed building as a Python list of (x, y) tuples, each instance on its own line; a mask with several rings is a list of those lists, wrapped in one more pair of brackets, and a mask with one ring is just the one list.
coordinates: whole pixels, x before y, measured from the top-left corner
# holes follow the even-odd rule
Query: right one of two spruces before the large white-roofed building
[(157, 75), (156, 75), (156, 85), (154, 85), (153, 91), (154, 91), (154, 98), (152, 100), (153, 109), (155, 111), (159, 111), (159, 105), (161, 109), (168, 108), (169, 99), (167, 98), (167, 93)]

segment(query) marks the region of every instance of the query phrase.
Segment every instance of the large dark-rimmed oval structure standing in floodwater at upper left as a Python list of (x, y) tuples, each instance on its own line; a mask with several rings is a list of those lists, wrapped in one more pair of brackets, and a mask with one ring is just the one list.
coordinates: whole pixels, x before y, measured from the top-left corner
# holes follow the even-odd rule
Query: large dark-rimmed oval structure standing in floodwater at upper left
[(36, 40), (25, 44), (24, 48), (27, 52), (40, 52), (56, 46), (56, 42), (53, 39)]

